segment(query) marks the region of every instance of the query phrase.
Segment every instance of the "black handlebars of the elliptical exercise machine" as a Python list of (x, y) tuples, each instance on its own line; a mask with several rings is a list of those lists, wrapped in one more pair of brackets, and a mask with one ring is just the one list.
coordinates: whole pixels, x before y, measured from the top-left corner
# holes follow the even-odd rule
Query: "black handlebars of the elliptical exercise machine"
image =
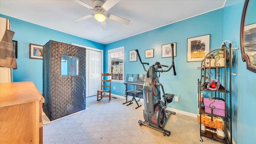
[[(161, 68), (162, 66), (164, 66), (164, 67), (167, 67), (168, 70), (162, 70), (162, 69), (161, 69), (161, 70), (157, 70), (157, 71), (158, 71), (158, 72), (168, 72), (169, 70), (171, 70), (171, 68), (173, 68), (173, 74), (174, 74), (174, 76), (176, 76), (176, 70), (175, 70), (175, 66), (174, 66), (174, 52), (173, 52), (173, 46), (174, 46), (174, 44), (171, 44), (171, 48), (172, 48), (172, 65), (170, 66), (170, 68), (168, 68), (169, 66), (162, 65), (162, 64), (159, 63), (160, 68)], [(137, 49), (136, 49), (135, 51), (136, 51), (137, 54), (138, 54), (138, 57), (139, 57), (139, 59), (140, 59), (140, 63), (142, 64), (144, 70), (147, 72), (147, 70), (146, 70), (144, 64), (149, 65), (149, 63), (148, 63), (148, 62), (142, 62), (142, 61), (141, 61), (141, 58), (140, 58), (139, 51), (138, 51)]]

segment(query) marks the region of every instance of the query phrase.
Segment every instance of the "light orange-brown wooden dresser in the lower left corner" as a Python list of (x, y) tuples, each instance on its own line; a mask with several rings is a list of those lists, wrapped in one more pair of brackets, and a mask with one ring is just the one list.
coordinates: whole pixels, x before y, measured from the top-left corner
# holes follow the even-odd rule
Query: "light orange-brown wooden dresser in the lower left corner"
[(33, 82), (0, 83), (0, 144), (42, 144), (42, 103)]

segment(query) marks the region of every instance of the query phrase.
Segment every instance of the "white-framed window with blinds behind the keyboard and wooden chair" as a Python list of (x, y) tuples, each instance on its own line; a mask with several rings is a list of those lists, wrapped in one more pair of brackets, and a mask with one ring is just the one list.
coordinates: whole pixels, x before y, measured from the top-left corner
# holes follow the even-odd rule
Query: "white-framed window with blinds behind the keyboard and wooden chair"
[(124, 81), (124, 46), (108, 50), (108, 72), (112, 80)]

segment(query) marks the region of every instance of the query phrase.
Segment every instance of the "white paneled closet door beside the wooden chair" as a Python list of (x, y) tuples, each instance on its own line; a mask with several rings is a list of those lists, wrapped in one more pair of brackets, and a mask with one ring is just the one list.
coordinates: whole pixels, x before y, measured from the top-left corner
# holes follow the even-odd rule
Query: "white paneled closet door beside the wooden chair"
[(88, 63), (86, 69), (88, 69), (88, 96), (97, 95), (97, 90), (100, 89), (101, 72), (102, 72), (102, 53), (95, 50), (86, 50), (88, 53)]

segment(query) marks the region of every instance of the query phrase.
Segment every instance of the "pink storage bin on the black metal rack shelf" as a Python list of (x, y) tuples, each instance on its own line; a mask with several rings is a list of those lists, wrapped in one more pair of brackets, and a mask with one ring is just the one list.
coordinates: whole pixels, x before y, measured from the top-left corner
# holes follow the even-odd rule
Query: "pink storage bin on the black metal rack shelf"
[(209, 100), (209, 98), (204, 98), (204, 106), (206, 113), (211, 114), (213, 109), (212, 114), (225, 116), (225, 102), (223, 100)]

